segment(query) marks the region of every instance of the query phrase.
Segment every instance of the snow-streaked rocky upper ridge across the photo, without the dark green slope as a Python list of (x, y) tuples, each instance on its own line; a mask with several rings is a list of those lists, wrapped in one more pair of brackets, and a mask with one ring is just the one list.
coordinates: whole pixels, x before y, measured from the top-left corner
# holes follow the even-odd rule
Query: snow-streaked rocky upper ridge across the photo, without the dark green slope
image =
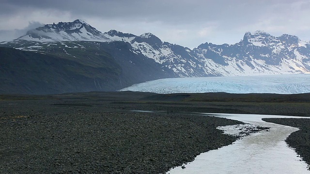
[[(134, 55), (153, 61), (163, 72), (175, 77), (310, 73), (309, 42), (300, 41), (298, 37), (288, 34), (275, 37), (260, 30), (254, 33), (246, 32), (239, 43), (202, 43), (191, 50), (181, 45), (163, 42), (152, 33), (140, 36), (116, 30), (101, 33), (86, 22), (75, 20), (32, 29), (17, 40), (0, 44), (42, 53), (55, 45), (47, 42), (64, 41), (123, 42), (127, 45), (126, 49)], [(82, 43), (78, 44), (81, 46), (72, 48), (83, 48)], [(97, 49), (115, 52), (115, 49), (107, 47), (109, 44), (101, 44)], [(72, 48), (65, 47), (63, 50), (66, 53)], [(127, 61), (128, 54), (124, 54), (124, 50), (121, 49), (118, 51), (117, 59)], [(129, 61), (134, 62), (135, 59), (131, 58)]]

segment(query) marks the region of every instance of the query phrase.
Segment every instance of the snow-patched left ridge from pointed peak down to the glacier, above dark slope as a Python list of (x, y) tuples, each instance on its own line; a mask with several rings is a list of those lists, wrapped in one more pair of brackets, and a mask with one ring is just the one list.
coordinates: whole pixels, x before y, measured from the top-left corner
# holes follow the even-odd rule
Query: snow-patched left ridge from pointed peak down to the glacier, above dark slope
[[(200, 61), (189, 54), (192, 51), (189, 48), (162, 42), (152, 33), (143, 33), (140, 36), (116, 30), (101, 33), (79, 19), (73, 22), (47, 24), (44, 27), (28, 31), (25, 36), (19, 37), (16, 40), (2, 42), (0, 44), (20, 50), (46, 52), (48, 49), (52, 49), (53, 46), (57, 45), (52, 42), (76, 41), (129, 43), (132, 53), (150, 58), (154, 63), (158, 64), (157, 66), (162, 67), (162, 71), (173, 74), (173, 76), (193, 77), (208, 75), (205, 73), (203, 67), (199, 65), (201, 64)], [(81, 47), (76, 46), (76, 48)], [(67, 51), (66, 49), (69, 48), (64, 48), (64, 52)], [(196, 64), (198, 65), (197, 67)]]

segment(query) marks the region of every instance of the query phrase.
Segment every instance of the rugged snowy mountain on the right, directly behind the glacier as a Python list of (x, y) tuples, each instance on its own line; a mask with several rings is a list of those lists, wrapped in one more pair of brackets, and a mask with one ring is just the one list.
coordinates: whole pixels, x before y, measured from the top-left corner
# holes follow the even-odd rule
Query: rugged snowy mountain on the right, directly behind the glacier
[(310, 44), (298, 37), (247, 32), (232, 45), (203, 43), (193, 56), (205, 62), (208, 72), (221, 75), (310, 73)]

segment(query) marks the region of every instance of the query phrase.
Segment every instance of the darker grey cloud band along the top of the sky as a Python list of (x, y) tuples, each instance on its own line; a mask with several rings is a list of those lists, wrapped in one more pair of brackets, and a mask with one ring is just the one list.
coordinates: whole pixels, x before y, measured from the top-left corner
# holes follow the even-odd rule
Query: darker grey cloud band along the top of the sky
[[(249, 21), (265, 13), (258, 10), (277, 0), (6, 0), (0, 14), (14, 15), (33, 9), (53, 9), (74, 15), (90, 15), (109, 19), (163, 21), (172, 24), (227, 20), (235, 17)], [(255, 15), (253, 15), (255, 14)], [(245, 17), (247, 16), (247, 17)], [(229, 21), (229, 20), (227, 20)]]

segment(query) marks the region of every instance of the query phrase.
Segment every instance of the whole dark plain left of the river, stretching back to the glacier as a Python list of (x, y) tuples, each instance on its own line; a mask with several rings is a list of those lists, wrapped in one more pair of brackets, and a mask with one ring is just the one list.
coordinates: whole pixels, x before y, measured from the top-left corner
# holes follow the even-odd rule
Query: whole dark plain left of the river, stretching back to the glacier
[[(192, 161), (202, 152), (236, 140), (216, 127), (240, 124), (239, 121), (182, 112), (264, 111), (270, 115), (286, 112), (296, 116), (310, 113), (307, 101), (296, 102), (290, 99), (292, 96), (286, 102), (283, 99), (250, 102), (240, 96), (218, 101), (222, 94), (215, 93), (207, 96), (209, 101), (196, 100), (205, 95), (141, 92), (1, 95), (0, 173), (164, 173)], [(212, 97), (216, 102), (212, 102)], [(274, 97), (271, 94), (269, 99)], [(265, 96), (261, 98), (266, 100)]]

